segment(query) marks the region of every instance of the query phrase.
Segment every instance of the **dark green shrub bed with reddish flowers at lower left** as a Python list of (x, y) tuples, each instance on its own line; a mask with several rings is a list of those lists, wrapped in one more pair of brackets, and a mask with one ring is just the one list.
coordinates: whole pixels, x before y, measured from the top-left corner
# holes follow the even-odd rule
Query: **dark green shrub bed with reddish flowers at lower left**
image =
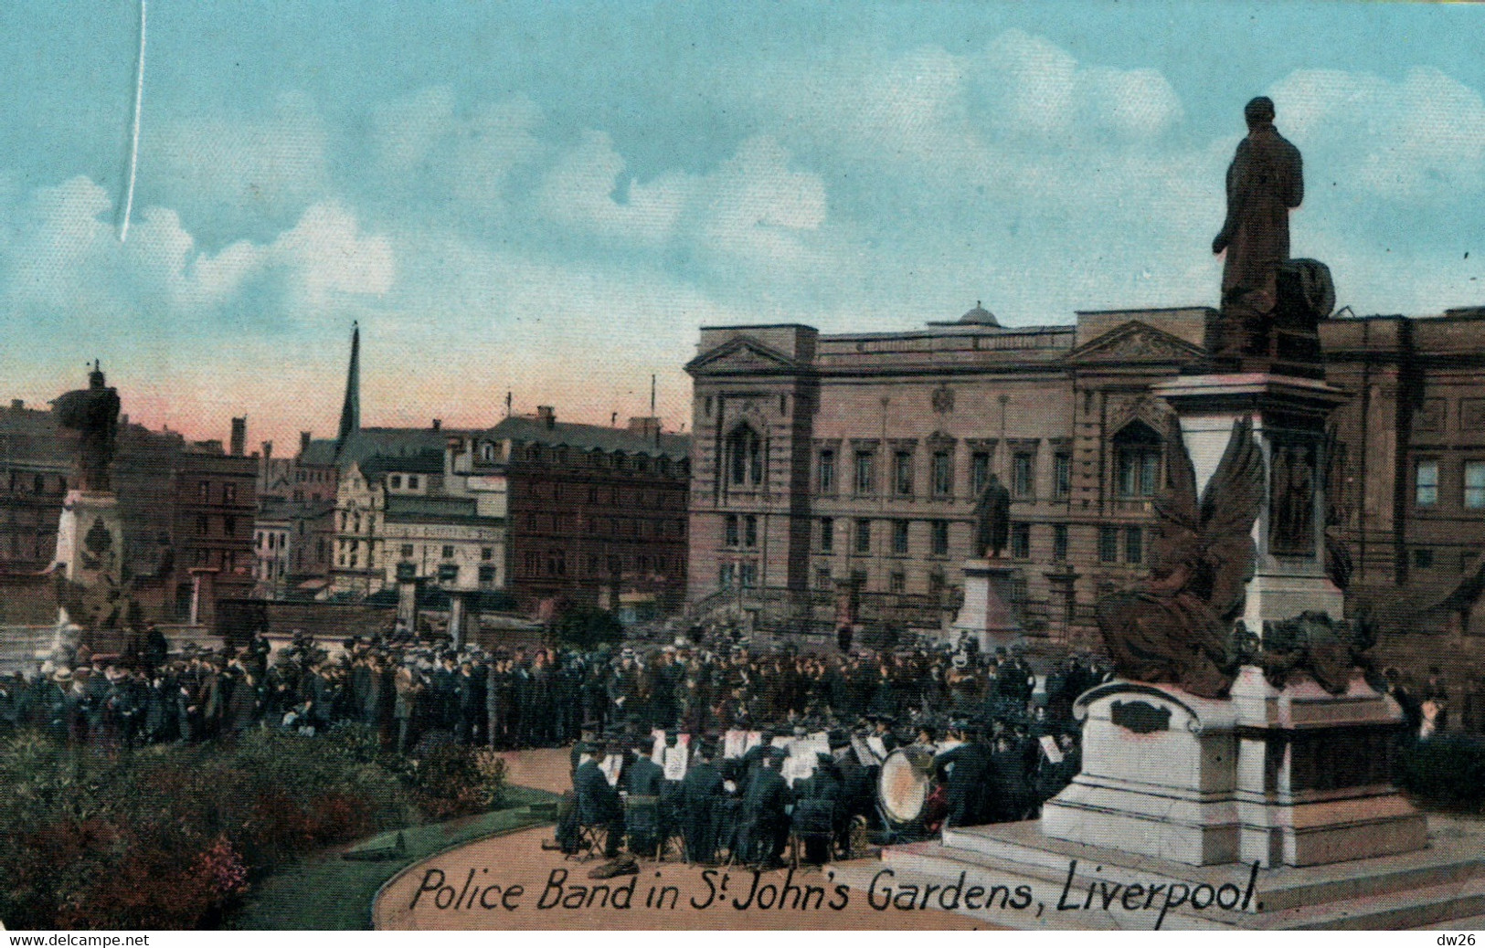
[(218, 924), (252, 881), (315, 849), (474, 813), (503, 770), (448, 745), (410, 761), (376, 733), (261, 730), (108, 755), (0, 742), (0, 918), (9, 927)]

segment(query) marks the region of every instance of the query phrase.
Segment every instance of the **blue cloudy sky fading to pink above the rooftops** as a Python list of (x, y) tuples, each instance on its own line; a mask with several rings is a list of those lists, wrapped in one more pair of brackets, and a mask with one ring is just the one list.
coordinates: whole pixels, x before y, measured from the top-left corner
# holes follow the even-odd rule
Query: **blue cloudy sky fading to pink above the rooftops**
[(1485, 9), (1377, 3), (9, 3), (0, 398), (102, 359), (151, 427), (538, 404), (689, 426), (698, 328), (1215, 304), (1243, 104), (1339, 306), (1485, 304)]

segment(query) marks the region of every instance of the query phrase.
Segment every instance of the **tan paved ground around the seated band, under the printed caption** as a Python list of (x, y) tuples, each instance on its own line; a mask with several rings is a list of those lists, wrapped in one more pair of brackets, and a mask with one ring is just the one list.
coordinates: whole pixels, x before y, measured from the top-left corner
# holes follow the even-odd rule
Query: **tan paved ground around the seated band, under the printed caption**
[[(508, 754), (511, 783), (566, 791), (567, 751)], [(983, 921), (939, 909), (907, 908), (888, 898), (875, 859), (824, 869), (754, 874), (682, 863), (640, 863), (637, 877), (590, 880), (598, 862), (563, 859), (541, 849), (551, 828), (480, 840), (410, 866), (383, 887), (373, 909), (377, 929), (976, 929)], [(471, 874), (472, 871), (472, 874)], [(891, 878), (887, 878), (891, 883)], [(723, 890), (725, 884), (725, 890)], [(515, 887), (520, 887), (520, 892)], [(588, 887), (609, 886), (607, 890)], [(633, 886), (633, 893), (625, 895)], [(584, 887), (584, 889), (578, 889)], [(838, 889), (843, 887), (843, 889)], [(891, 899), (891, 901), (890, 901)], [(897, 903), (894, 903), (894, 901)], [(649, 905), (646, 905), (649, 902)], [(803, 908), (800, 908), (803, 902)], [(898, 903), (901, 906), (898, 906)], [(841, 908), (836, 908), (836, 906)]]

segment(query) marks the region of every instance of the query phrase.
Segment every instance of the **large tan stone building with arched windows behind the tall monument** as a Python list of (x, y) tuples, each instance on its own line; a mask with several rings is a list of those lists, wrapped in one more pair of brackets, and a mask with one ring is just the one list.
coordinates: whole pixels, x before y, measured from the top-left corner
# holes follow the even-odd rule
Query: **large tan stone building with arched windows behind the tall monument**
[[(974, 498), (996, 476), (1028, 626), (1096, 645), (1097, 596), (1148, 570), (1169, 412), (1149, 387), (1206, 356), (1213, 317), (1089, 312), (1007, 328), (976, 306), (904, 332), (702, 329), (688, 365), (693, 610), (818, 633), (849, 596), (867, 628), (943, 628), (979, 555)], [(1482, 329), (1472, 312), (1322, 326), (1329, 380), (1354, 395), (1335, 415), (1332, 506), (1356, 602), (1476, 608)]]

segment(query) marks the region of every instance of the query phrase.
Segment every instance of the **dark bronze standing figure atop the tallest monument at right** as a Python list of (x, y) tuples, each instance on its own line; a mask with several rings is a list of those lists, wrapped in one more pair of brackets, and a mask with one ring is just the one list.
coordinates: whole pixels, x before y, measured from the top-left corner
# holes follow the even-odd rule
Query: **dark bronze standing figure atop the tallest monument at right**
[(1289, 260), (1289, 209), (1304, 200), (1299, 148), (1274, 129), (1274, 102), (1243, 108), (1247, 138), (1227, 169), (1227, 221), (1212, 252), (1227, 251), (1218, 358), (1241, 361), (1267, 346), (1279, 303), (1279, 267)]

